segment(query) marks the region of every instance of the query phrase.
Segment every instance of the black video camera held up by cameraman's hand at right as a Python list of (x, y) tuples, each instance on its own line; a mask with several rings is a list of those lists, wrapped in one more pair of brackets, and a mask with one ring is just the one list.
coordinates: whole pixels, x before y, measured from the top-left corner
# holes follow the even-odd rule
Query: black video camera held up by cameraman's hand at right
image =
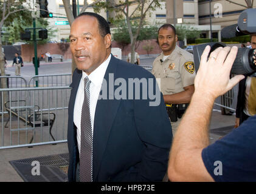
[[(238, 18), (238, 24), (230, 25), (221, 30), (223, 38), (232, 38), (241, 35), (252, 35), (256, 33), (256, 8), (244, 10)], [(202, 52), (207, 45), (210, 45), (210, 53), (218, 47), (225, 47), (226, 44), (221, 42), (212, 42), (210, 44), (199, 44), (193, 47), (193, 55), (195, 62), (195, 70), (199, 69)], [(210, 56), (209, 53), (209, 56)], [(209, 57), (208, 56), (208, 57)], [(231, 69), (231, 74), (249, 75), (256, 77), (256, 49), (240, 48), (237, 52), (234, 64)]]

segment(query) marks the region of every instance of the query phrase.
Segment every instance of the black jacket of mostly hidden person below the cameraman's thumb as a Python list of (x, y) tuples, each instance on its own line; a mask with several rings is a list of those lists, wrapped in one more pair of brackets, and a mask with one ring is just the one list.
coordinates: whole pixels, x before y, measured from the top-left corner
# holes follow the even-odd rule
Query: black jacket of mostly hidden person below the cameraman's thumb
[(245, 104), (245, 90), (246, 90), (246, 79), (247, 76), (239, 82), (238, 85), (238, 96), (237, 96), (237, 109), (235, 110), (235, 116), (240, 118), (240, 124), (243, 121), (243, 110)]

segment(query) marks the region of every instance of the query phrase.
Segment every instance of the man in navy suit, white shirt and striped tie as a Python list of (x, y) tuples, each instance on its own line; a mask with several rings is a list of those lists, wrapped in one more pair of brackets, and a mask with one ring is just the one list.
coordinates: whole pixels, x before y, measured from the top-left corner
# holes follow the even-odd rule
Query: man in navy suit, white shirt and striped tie
[(111, 55), (100, 15), (81, 13), (70, 41), (69, 181), (162, 181), (172, 133), (156, 79)]

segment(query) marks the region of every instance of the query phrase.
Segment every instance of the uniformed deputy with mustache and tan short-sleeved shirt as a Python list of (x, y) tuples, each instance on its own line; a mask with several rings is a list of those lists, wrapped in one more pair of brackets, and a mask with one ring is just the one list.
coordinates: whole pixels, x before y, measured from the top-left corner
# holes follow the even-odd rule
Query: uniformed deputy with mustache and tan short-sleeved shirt
[(161, 78), (161, 92), (167, 104), (173, 133), (178, 127), (182, 113), (192, 98), (195, 79), (193, 55), (176, 45), (175, 27), (164, 24), (158, 30), (157, 42), (162, 53), (153, 62), (152, 73)]

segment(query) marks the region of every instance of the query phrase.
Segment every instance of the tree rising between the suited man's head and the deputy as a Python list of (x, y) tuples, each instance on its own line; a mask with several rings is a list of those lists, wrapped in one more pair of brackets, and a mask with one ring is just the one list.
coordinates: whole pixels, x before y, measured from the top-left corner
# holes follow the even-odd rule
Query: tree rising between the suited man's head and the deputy
[[(131, 7), (131, 4), (134, 4), (133, 7)], [(108, 0), (94, 5), (94, 11), (99, 13), (102, 8), (105, 8), (109, 12), (114, 12), (116, 14), (114, 19), (125, 19), (131, 40), (131, 62), (133, 63), (136, 42), (139, 37), (140, 30), (143, 27), (145, 17), (147, 14), (150, 14), (150, 11), (156, 10), (156, 8), (159, 7), (161, 7), (161, 4), (158, 0)], [(134, 19), (138, 21), (138, 26), (135, 31), (133, 31), (132, 27)]]

